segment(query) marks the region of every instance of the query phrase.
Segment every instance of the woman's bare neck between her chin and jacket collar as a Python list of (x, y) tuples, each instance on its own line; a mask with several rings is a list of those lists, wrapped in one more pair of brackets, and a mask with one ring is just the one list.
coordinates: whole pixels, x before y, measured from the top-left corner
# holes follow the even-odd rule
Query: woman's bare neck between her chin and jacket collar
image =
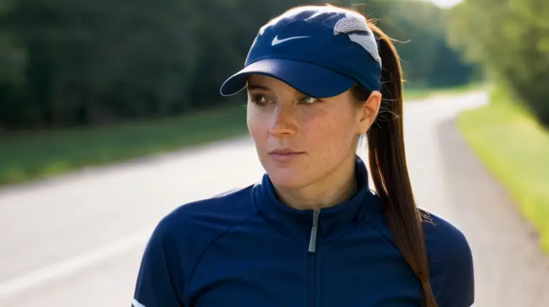
[(341, 204), (358, 190), (355, 179), (355, 160), (345, 161), (321, 180), (303, 188), (277, 188), (281, 201), (298, 210), (317, 210)]

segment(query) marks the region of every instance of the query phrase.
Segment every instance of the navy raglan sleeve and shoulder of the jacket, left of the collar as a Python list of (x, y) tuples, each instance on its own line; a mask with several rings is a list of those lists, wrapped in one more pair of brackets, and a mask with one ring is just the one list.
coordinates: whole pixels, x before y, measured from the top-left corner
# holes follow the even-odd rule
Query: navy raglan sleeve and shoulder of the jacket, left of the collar
[(250, 214), (252, 191), (248, 186), (191, 201), (166, 214), (145, 246), (135, 302), (179, 306), (179, 300), (185, 296), (185, 283), (205, 251), (220, 236), (253, 215)]

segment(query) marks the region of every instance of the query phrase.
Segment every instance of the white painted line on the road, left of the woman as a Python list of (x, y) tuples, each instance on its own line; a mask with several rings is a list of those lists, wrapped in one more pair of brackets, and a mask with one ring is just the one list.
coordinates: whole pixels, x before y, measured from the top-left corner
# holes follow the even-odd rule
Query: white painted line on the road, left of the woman
[(140, 232), (109, 245), (94, 249), (89, 253), (69, 258), (49, 267), (15, 278), (14, 280), (4, 282), (3, 284), (0, 284), (0, 299), (5, 299), (6, 297), (25, 291), (32, 286), (70, 275), (71, 273), (89, 267), (96, 262), (122, 254), (128, 249), (146, 243), (150, 234), (151, 232)]

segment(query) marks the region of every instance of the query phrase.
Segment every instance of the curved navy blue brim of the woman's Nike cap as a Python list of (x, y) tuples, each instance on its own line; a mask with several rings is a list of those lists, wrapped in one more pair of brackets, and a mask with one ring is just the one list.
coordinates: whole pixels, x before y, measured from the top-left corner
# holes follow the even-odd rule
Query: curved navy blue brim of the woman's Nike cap
[(253, 74), (268, 75), (311, 97), (333, 97), (343, 93), (356, 81), (315, 64), (289, 59), (270, 58), (259, 60), (235, 73), (221, 86), (221, 95), (231, 96), (246, 87)]

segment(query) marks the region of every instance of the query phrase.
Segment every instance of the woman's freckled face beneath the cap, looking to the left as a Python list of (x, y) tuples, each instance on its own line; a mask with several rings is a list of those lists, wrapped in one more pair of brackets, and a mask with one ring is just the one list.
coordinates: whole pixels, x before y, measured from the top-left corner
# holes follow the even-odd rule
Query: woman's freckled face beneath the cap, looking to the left
[(358, 106), (349, 90), (316, 99), (279, 79), (250, 76), (248, 130), (272, 182), (303, 188), (338, 173), (345, 162), (354, 164), (358, 135), (379, 109), (377, 94), (372, 96), (379, 99)]

